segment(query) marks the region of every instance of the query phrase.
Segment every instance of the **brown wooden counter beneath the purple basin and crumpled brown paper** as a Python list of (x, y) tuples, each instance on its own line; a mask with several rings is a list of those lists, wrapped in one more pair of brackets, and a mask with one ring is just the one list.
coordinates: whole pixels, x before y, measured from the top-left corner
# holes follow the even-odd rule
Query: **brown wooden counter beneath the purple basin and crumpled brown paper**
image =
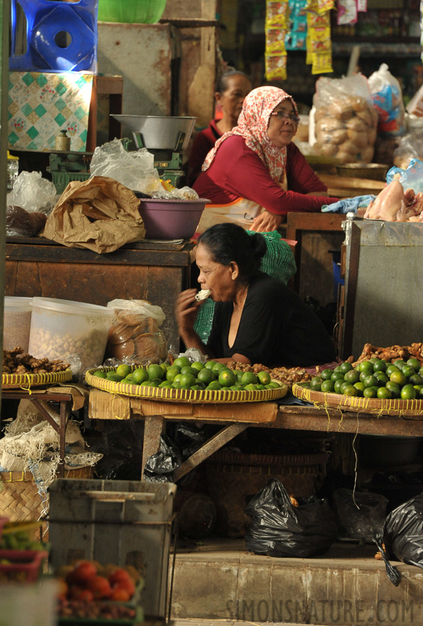
[(6, 296), (44, 296), (106, 305), (149, 300), (166, 314), (161, 326), (179, 351), (175, 301), (191, 280), (194, 244), (128, 243), (108, 254), (67, 248), (42, 237), (6, 238)]

